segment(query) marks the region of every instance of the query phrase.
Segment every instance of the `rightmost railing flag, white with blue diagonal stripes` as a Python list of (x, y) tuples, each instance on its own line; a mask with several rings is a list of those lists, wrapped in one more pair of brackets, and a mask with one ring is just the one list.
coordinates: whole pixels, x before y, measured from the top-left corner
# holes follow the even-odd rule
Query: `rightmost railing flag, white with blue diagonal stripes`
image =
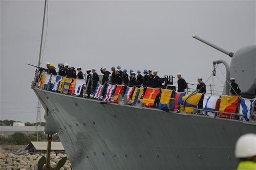
[(248, 121), (252, 112), (253, 102), (256, 99), (245, 99), (240, 100), (240, 110), (239, 113), (244, 115), (244, 121)]

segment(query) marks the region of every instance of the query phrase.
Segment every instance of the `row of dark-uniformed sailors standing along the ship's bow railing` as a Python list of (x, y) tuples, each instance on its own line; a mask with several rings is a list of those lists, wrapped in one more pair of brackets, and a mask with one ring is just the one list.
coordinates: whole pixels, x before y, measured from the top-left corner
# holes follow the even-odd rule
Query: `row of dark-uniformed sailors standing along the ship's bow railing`
[[(59, 76), (67, 76), (69, 78), (78, 78), (78, 79), (83, 79), (83, 73), (82, 73), (82, 69), (81, 67), (77, 67), (77, 75), (76, 75), (76, 70), (74, 68), (74, 66), (69, 66), (69, 64), (63, 64), (63, 63), (59, 63), (58, 64), (58, 75)], [(144, 69), (143, 71), (143, 76), (141, 75), (141, 71), (137, 70), (137, 77), (136, 74), (134, 72), (133, 69), (130, 70), (130, 76), (127, 74), (127, 70), (123, 69), (123, 71), (121, 70), (121, 66), (117, 66), (117, 69), (115, 67), (111, 68), (112, 73), (109, 72), (108, 70), (106, 70), (105, 67), (101, 67), (100, 71), (103, 74), (102, 77), (102, 84), (104, 84), (104, 82), (108, 82), (109, 81), (109, 75), (111, 75), (111, 83), (112, 84), (124, 84), (124, 85), (129, 85), (129, 86), (137, 86), (140, 87), (141, 85), (143, 85), (144, 87), (155, 87), (155, 88), (159, 88), (162, 85), (162, 80), (161, 78), (157, 75), (158, 71), (155, 70), (153, 71), (152, 74), (152, 70), (147, 70)], [(92, 71), (92, 74), (91, 73)], [(52, 75), (57, 75), (57, 72), (55, 70), (55, 67), (52, 63), (47, 62), (47, 72), (48, 74), (52, 74)], [(186, 81), (181, 77), (181, 74), (178, 73), (177, 74), (177, 78), (178, 78), (178, 92), (184, 92), (185, 89), (187, 88), (187, 83)], [(95, 89), (95, 87), (97, 86), (97, 83), (99, 81), (99, 77), (98, 74), (96, 72), (95, 68), (92, 68), (92, 70), (87, 69), (87, 82), (86, 84), (88, 84), (88, 80), (91, 80), (89, 82), (89, 86), (93, 86), (93, 89)], [(204, 84), (204, 82), (202, 81), (203, 78), (202, 77), (198, 77), (198, 84), (197, 84), (197, 89), (199, 89), (200, 93), (206, 93), (206, 86)], [(232, 95), (237, 95), (241, 92), (241, 90), (238, 87), (238, 84), (234, 82), (234, 78), (230, 79), (230, 92)], [(94, 90), (93, 90), (94, 91)]]

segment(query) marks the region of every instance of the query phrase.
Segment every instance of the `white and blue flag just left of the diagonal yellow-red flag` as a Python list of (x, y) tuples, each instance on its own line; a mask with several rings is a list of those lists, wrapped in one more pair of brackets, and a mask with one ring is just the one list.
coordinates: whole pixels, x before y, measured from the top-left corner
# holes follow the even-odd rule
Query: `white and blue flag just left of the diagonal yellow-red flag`
[[(204, 95), (203, 109), (209, 111), (215, 111), (216, 103), (220, 97), (214, 95)], [(207, 112), (204, 113), (207, 116), (214, 117), (215, 113)]]

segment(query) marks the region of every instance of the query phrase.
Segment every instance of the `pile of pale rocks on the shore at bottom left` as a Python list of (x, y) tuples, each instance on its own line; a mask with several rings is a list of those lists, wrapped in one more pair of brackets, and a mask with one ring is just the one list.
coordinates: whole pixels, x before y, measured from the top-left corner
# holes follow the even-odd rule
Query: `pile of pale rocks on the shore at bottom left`
[[(0, 169), (7, 169), (7, 170), (36, 170), (34, 168), (37, 165), (38, 160), (46, 155), (14, 155), (12, 153), (0, 153)], [(67, 157), (67, 155), (58, 154), (54, 155), (51, 154), (50, 166), (55, 167), (59, 160), (63, 157)], [(67, 159), (65, 165), (60, 168), (60, 170), (71, 170), (72, 166), (70, 161)]]

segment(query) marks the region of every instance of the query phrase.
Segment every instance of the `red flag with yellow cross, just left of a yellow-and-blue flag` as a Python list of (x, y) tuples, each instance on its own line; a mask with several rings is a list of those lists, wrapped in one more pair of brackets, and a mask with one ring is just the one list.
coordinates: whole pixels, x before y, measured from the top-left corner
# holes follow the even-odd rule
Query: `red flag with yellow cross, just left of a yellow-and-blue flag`
[(159, 93), (160, 93), (159, 88), (147, 87), (142, 100), (143, 105), (145, 105), (146, 107), (154, 106), (155, 99), (157, 97), (157, 94)]

